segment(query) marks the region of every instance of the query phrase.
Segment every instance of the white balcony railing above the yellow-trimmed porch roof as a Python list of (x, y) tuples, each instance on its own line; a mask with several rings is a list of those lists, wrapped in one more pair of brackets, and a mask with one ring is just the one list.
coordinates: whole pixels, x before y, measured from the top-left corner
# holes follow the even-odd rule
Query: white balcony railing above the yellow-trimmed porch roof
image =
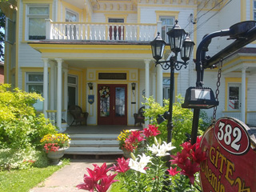
[(52, 22), (46, 20), (46, 39), (98, 41), (152, 41), (157, 24)]

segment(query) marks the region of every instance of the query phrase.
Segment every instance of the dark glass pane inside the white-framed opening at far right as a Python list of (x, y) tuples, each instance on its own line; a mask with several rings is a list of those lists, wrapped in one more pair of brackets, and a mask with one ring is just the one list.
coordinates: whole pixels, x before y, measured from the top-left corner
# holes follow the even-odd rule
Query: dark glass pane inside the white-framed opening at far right
[(239, 86), (229, 86), (229, 110), (239, 110)]

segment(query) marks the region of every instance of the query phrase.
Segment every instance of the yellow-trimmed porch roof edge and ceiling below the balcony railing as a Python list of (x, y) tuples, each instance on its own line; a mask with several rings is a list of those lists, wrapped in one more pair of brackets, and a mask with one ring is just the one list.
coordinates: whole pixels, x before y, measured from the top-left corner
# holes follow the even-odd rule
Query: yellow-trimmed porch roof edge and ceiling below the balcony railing
[(29, 42), (42, 58), (62, 58), (69, 67), (144, 69), (144, 60), (153, 58), (149, 42)]

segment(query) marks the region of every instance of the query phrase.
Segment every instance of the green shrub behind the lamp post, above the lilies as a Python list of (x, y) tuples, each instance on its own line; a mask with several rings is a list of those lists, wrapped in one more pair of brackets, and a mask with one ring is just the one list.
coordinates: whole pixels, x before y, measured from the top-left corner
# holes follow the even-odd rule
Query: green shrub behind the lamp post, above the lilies
[[(174, 153), (181, 150), (181, 144), (186, 141), (186, 134), (191, 134), (192, 130), (192, 121), (193, 121), (193, 111), (190, 109), (182, 108), (182, 103), (184, 98), (178, 95), (178, 102), (174, 102), (173, 105), (173, 125), (172, 130), (172, 144), (176, 146), (176, 149), (173, 150)], [(154, 101), (153, 97), (146, 98), (146, 102), (143, 103), (146, 107), (145, 118), (149, 120), (149, 123), (155, 126), (158, 126), (158, 130), (161, 131), (161, 138), (163, 141), (167, 140), (167, 121), (162, 122), (160, 125), (157, 123), (158, 114), (164, 114), (166, 111), (169, 111), (169, 100), (163, 100), (163, 106), (160, 106), (158, 102)], [(202, 111), (199, 119), (198, 134), (202, 134), (206, 129), (206, 126), (209, 125), (209, 118), (206, 115), (205, 111)]]

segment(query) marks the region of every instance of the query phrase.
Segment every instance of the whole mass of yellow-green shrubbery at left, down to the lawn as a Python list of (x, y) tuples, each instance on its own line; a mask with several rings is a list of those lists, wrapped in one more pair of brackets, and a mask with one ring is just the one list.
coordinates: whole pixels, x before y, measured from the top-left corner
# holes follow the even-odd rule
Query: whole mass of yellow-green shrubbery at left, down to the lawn
[(37, 114), (37, 100), (42, 100), (40, 94), (0, 85), (0, 170), (47, 165), (40, 140), (57, 130), (44, 114)]

